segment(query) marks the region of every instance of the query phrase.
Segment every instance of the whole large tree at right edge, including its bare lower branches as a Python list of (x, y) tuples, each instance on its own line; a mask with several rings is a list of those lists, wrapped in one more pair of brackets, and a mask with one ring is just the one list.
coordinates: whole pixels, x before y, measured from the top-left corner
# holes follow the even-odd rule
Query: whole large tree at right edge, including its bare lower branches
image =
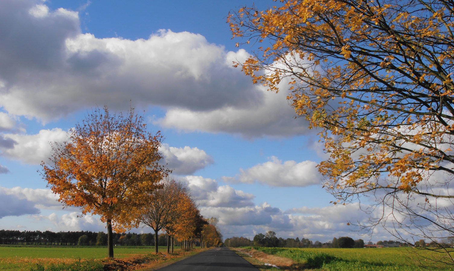
[[(228, 16), (237, 45), (262, 45), (236, 65), (254, 83), (289, 91), (296, 115), (317, 128), (330, 155), (318, 168), (336, 203), (372, 195), (362, 226), (381, 223), (410, 244), (454, 236), (453, 3), (275, 5)], [(452, 249), (436, 250), (454, 264)]]

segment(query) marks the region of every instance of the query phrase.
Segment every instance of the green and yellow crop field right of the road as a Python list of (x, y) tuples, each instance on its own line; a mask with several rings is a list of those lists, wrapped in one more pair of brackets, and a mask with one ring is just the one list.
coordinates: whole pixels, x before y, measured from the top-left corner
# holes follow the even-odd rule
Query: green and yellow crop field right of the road
[(350, 249), (245, 247), (233, 250), (261, 270), (454, 270), (454, 266), (428, 260), (439, 254), (410, 247)]

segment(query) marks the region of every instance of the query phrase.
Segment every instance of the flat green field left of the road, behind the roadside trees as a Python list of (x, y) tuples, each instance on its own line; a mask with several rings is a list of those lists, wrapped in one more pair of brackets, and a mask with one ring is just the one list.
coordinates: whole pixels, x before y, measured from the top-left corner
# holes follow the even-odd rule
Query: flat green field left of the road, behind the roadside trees
[[(179, 247), (174, 248), (175, 253), (171, 256), (166, 255), (167, 247), (159, 247), (159, 252), (163, 254), (157, 257), (154, 254), (154, 247), (114, 247), (115, 258), (125, 262), (134, 261), (134, 258), (153, 258), (153, 261), (165, 261), (186, 255), (181, 252)], [(38, 265), (74, 264), (84, 261), (88, 261), (90, 264), (104, 264), (107, 256), (107, 247), (0, 246), (0, 270), (29, 271)], [(126, 265), (130, 265), (130, 263)]]

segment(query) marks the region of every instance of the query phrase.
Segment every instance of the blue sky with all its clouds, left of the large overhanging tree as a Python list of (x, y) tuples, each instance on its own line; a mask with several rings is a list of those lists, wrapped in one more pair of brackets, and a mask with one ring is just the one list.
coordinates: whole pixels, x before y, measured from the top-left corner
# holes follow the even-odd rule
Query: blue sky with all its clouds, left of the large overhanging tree
[[(272, 230), (368, 241), (347, 226), (367, 221), (357, 203), (329, 203), (315, 167), (326, 154), (316, 131), (293, 118), (285, 82), (266, 92), (232, 67), (253, 48), (235, 47), (227, 15), (252, 3), (1, 1), (0, 228), (105, 230), (95, 216), (62, 209), (37, 170), (48, 142), (64, 140), (87, 111), (131, 103), (162, 132), (165, 162), (224, 237)], [(376, 229), (372, 240), (390, 238)]]

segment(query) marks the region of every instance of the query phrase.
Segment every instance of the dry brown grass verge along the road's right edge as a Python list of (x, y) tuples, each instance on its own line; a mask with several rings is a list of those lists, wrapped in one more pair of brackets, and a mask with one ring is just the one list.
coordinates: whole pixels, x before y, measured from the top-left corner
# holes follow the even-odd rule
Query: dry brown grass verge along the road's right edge
[(232, 251), (242, 256), (246, 261), (260, 269), (261, 271), (296, 271), (303, 267), (301, 263), (292, 261), (289, 258), (266, 254), (255, 249), (229, 247)]

